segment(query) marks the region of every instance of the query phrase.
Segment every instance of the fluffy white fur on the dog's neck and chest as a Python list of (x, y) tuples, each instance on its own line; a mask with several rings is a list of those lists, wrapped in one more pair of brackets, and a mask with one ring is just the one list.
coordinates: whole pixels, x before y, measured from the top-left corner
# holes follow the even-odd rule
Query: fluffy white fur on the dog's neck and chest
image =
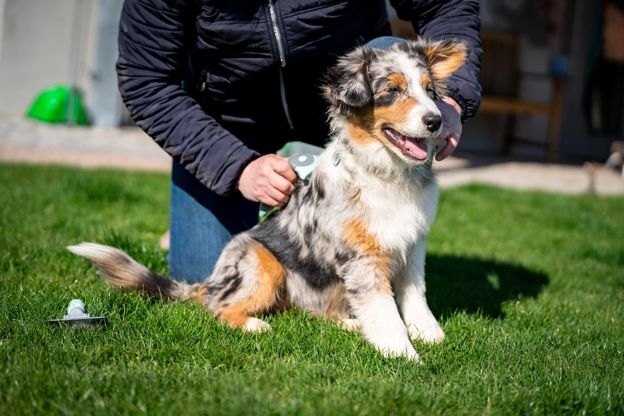
[[(336, 150), (340, 155), (337, 166), (333, 164)], [(329, 193), (343, 199), (335, 213), (342, 221), (361, 218), (380, 246), (406, 254), (412, 244), (426, 236), (436, 216), (436, 180), (423, 181), (419, 171), (406, 171), (383, 146), (368, 148), (366, 154), (373, 155), (371, 164), (365, 155), (354, 155), (334, 141), (319, 158), (316, 169), (323, 173)], [(378, 166), (384, 169), (374, 168)]]

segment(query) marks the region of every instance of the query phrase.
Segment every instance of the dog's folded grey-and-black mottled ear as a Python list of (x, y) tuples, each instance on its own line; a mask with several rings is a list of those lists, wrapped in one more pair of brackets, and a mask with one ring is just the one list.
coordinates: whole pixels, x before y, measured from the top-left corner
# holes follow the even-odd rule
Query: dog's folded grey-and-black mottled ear
[(368, 65), (373, 54), (371, 47), (359, 46), (328, 69), (325, 96), (341, 112), (350, 114), (373, 99), (373, 87), (368, 74)]

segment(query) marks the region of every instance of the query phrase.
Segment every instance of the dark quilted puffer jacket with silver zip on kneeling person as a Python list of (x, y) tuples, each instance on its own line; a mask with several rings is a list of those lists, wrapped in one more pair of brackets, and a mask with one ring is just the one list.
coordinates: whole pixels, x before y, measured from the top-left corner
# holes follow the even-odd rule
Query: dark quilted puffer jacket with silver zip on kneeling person
[[(480, 102), (478, 1), (395, 0), (432, 39), (472, 57), (449, 80), (465, 121)], [(119, 89), (130, 114), (204, 185), (232, 195), (242, 169), (289, 140), (327, 138), (318, 86), (337, 54), (389, 35), (383, 0), (125, 0)]]

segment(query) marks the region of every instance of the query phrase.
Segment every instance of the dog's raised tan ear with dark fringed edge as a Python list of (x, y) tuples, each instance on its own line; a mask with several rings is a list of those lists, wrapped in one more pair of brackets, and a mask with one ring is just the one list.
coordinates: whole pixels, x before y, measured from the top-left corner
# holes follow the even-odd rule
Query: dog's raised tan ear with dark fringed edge
[(470, 46), (459, 39), (449, 39), (430, 42), (422, 52), (431, 74), (439, 80), (445, 80), (464, 65), (470, 54)]

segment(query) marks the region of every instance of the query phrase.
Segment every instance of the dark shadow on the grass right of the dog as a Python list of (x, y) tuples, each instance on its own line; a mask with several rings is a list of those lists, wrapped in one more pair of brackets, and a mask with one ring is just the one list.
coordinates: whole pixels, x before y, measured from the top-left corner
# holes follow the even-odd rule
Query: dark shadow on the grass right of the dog
[(503, 302), (535, 297), (548, 283), (545, 274), (516, 264), (437, 254), (427, 254), (425, 279), (436, 317), (455, 311), (503, 317)]

